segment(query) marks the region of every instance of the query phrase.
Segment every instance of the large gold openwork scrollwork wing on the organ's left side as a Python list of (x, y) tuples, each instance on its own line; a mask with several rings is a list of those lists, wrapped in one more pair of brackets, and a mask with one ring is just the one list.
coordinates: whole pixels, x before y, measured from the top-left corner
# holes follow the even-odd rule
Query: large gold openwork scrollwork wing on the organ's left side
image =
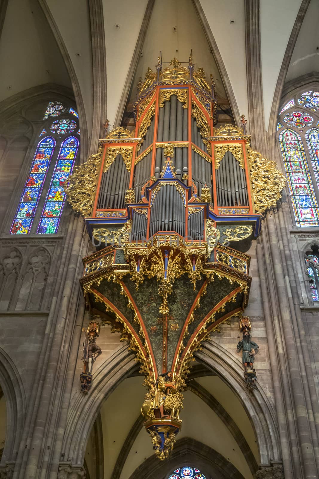
[(67, 201), (74, 211), (84, 217), (90, 216), (92, 211), (101, 154), (102, 146), (99, 146), (96, 155), (91, 155), (83, 165), (75, 167), (65, 185)]

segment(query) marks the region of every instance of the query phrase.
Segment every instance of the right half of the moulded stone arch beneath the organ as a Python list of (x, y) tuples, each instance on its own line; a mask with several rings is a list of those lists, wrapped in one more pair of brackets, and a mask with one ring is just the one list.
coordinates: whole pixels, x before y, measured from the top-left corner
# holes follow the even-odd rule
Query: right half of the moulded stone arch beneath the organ
[(245, 409), (255, 432), (260, 464), (280, 461), (280, 441), (275, 410), (260, 384), (250, 393), (242, 378), (242, 365), (231, 353), (212, 338), (205, 342), (197, 359), (213, 370), (236, 394)]

